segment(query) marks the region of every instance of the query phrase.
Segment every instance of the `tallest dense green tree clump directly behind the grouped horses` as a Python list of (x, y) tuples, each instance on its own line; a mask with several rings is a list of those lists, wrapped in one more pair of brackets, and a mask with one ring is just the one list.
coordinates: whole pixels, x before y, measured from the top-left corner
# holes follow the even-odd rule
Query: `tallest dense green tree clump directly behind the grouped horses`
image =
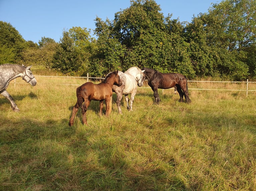
[[(100, 66), (105, 68), (106, 63), (112, 62), (122, 70), (146, 66), (194, 76), (186, 54), (189, 46), (180, 36), (182, 25), (177, 20), (172, 23), (171, 16), (164, 18), (160, 11), (153, 0), (132, 0), (129, 8), (115, 14), (114, 21), (97, 18), (95, 31), (101, 47), (95, 55)], [(115, 54), (109, 54), (111, 50)]]

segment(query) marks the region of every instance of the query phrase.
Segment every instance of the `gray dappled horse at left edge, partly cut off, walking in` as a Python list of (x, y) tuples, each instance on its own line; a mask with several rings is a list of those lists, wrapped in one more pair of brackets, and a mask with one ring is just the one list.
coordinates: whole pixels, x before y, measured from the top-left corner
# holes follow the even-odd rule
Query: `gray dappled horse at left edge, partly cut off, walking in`
[(33, 76), (31, 66), (26, 67), (24, 65), (19, 66), (17, 64), (2, 64), (0, 65), (0, 94), (5, 96), (10, 102), (14, 111), (19, 111), (12, 96), (6, 91), (10, 81), (15, 78), (22, 77), (22, 79), (29, 83), (31, 86), (36, 85), (36, 79)]

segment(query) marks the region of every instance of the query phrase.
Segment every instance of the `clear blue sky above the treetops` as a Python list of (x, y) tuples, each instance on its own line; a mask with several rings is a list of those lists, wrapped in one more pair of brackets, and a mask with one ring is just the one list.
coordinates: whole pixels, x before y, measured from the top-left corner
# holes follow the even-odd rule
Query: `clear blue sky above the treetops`
[[(155, 0), (163, 15), (191, 22), (221, 0)], [(42, 37), (56, 42), (72, 27), (95, 29), (96, 16), (113, 20), (116, 12), (130, 7), (130, 0), (0, 0), (0, 20), (10, 23), (26, 40)], [(92, 34), (93, 35), (93, 34)]]

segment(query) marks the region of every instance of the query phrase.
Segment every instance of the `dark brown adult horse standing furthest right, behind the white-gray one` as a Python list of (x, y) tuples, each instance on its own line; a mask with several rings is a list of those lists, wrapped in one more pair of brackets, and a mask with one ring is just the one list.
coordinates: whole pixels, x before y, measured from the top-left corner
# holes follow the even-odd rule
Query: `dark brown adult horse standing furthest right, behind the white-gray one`
[(169, 89), (176, 87), (179, 93), (179, 102), (183, 102), (183, 95), (185, 96), (186, 103), (190, 103), (191, 100), (188, 96), (187, 78), (182, 74), (169, 73), (164, 74), (156, 70), (143, 67), (141, 70), (145, 70), (144, 74), (148, 80), (148, 85), (154, 92), (155, 103), (159, 104), (161, 101), (157, 89)]

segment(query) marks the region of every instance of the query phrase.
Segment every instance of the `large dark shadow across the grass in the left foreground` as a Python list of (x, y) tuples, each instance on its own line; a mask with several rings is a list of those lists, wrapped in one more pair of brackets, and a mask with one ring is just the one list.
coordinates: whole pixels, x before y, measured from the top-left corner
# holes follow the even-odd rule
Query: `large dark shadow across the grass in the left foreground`
[[(0, 183), (0, 190), (37, 186), (49, 190), (66, 190), (66, 186), (69, 190), (160, 190), (162, 185), (184, 188), (177, 177), (166, 183), (166, 172), (157, 166), (137, 170), (123, 152), (118, 152), (119, 144), (109, 142), (109, 135), (91, 139), (97, 132), (77, 133), (76, 128), (68, 127), (67, 119), (43, 122), (6, 117), (1, 119), (3, 124), (7, 125), (0, 133), (0, 164), (12, 170), (6, 177), (0, 175), (6, 183)], [(157, 183), (152, 184), (154, 181)]]

